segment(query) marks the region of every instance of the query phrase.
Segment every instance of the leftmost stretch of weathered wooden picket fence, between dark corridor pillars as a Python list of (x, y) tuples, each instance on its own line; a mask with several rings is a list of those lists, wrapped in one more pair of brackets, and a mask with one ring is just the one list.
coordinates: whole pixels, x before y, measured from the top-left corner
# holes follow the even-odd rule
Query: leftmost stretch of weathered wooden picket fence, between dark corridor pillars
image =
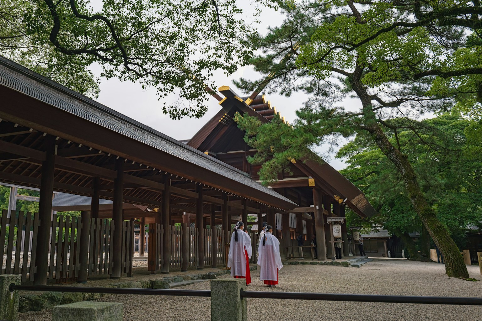
[[(39, 213), (2, 211), (0, 219), (1, 274), (22, 274), (22, 282), (33, 281), (36, 266)], [(53, 215), (50, 224), (48, 279), (67, 280), (79, 276), (80, 235), (89, 233), (88, 275), (110, 274), (112, 247), (110, 236), (114, 226), (108, 219), (92, 219), (81, 228), (80, 217)], [(134, 221), (123, 222), (122, 272), (132, 274), (134, 254)], [(128, 255), (125, 255), (128, 253)]]

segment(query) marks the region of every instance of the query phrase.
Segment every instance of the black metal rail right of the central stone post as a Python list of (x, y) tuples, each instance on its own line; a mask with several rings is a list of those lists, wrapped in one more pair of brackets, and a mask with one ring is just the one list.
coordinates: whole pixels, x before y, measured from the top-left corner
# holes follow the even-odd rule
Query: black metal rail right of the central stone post
[(264, 299), (455, 304), (455, 305), (482, 306), (482, 297), (326, 294), (326, 293), (267, 292), (267, 291), (243, 291), (243, 290), (241, 290), (241, 297), (257, 297), (257, 298), (264, 298)]

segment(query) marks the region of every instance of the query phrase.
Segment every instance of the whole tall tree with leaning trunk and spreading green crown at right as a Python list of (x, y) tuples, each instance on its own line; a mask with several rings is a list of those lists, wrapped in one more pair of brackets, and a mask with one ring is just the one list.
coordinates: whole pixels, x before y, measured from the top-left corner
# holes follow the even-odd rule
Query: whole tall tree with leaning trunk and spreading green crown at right
[[(303, 145), (365, 133), (399, 172), (417, 216), (442, 251), (446, 273), (468, 278), (458, 248), (429, 205), (398, 136), (409, 130), (420, 144), (427, 144), (419, 134), (425, 125), (417, 117), (449, 110), (457, 88), (476, 81), (469, 76), (482, 74), (482, 47), (469, 48), (465, 36), (474, 33), (480, 38), (480, 2), (285, 1), (282, 9), (286, 19), (281, 26), (252, 38), (261, 53), (251, 62), (268, 77), (237, 82), (254, 95), (263, 89), (286, 95), (303, 90), (309, 95), (293, 130), (280, 121), (267, 125), (281, 128), (277, 135), (271, 133), (278, 141), (267, 146), (274, 147), (275, 158), (282, 156), (266, 166), (275, 163), (280, 168), (289, 157), (309, 157)], [(439, 92), (443, 79), (450, 80), (450, 90)], [(356, 99), (357, 105), (344, 108), (339, 102), (348, 98)], [(248, 117), (239, 120), (242, 128), (257, 135)], [(390, 141), (392, 135), (395, 141)], [(269, 172), (274, 170), (264, 169)]]

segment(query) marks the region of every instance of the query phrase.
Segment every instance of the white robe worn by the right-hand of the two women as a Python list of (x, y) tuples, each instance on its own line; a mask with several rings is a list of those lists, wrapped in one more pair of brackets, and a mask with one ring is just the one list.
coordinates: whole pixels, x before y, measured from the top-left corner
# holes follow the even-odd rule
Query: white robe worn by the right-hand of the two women
[(259, 279), (261, 281), (278, 281), (278, 270), (283, 267), (280, 256), (280, 241), (270, 232), (266, 232), (265, 237), (265, 245), (261, 240), (258, 246), (258, 265), (261, 267)]

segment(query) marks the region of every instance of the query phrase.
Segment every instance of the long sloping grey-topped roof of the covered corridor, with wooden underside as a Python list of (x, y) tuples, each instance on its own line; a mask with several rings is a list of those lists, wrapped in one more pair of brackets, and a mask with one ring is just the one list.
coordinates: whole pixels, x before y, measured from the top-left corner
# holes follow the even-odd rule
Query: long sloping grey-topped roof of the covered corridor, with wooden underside
[[(92, 194), (92, 177), (112, 198), (115, 159), (126, 159), (124, 202), (160, 205), (162, 183), (179, 210), (193, 210), (203, 186), (206, 203), (223, 192), (252, 206), (291, 209), (295, 203), (246, 173), (0, 56), (0, 180), (38, 187), (46, 135), (56, 137), (54, 190)], [(230, 201), (231, 201), (230, 199)], [(183, 203), (183, 200), (186, 202)], [(207, 204), (209, 207), (209, 204)], [(235, 204), (233, 204), (235, 205)], [(239, 207), (239, 206), (238, 206)], [(258, 206), (259, 207), (259, 206)]]

